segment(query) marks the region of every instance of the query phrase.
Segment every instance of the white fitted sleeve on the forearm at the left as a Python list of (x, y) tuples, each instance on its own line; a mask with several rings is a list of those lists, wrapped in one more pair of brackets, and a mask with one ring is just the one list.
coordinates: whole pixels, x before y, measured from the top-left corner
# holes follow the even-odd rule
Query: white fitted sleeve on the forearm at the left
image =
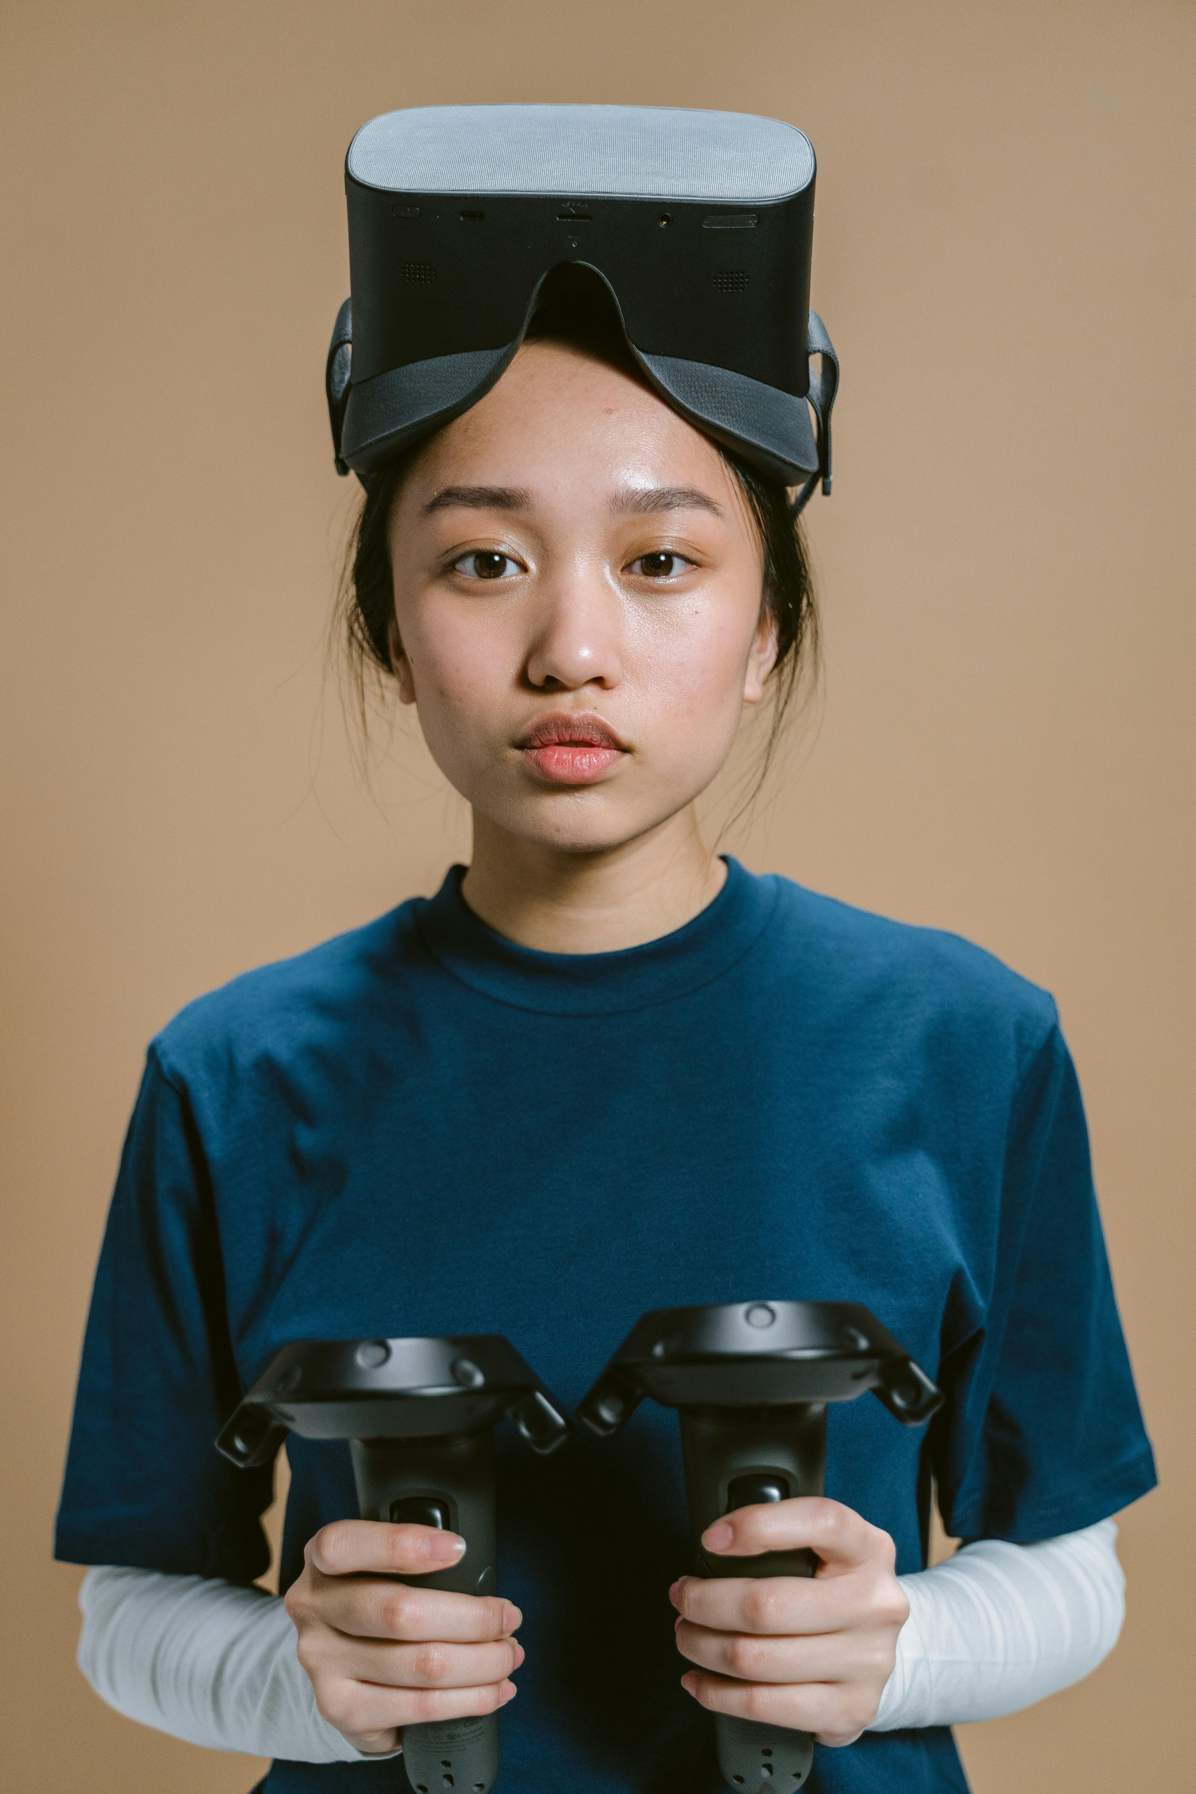
[[(366, 1764), (316, 1708), (276, 1595), (197, 1575), (90, 1570), (79, 1668), (109, 1706), (210, 1751)], [(398, 1755), (398, 1753), (391, 1753)]]

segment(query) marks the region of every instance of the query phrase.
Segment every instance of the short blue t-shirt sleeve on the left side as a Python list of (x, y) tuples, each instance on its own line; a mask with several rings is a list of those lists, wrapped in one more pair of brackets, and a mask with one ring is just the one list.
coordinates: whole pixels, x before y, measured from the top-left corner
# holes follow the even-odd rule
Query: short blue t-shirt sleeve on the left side
[(151, 1048), (91, 1293), (56, 1557), (262, 1575), (273, 1469), (240, 1471), (213, 1444), (240, 1394), (203, 1145)]

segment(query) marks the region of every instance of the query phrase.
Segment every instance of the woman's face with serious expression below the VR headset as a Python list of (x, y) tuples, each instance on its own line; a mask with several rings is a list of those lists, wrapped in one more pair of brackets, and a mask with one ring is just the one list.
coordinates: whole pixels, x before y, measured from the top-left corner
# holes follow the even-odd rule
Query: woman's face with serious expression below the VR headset
[(430, 440), (391, 556), (403, 703), (475, 811), (540, 847), (606, 850), (683, 811), (773, 666), (735, 475), (556, 343)]

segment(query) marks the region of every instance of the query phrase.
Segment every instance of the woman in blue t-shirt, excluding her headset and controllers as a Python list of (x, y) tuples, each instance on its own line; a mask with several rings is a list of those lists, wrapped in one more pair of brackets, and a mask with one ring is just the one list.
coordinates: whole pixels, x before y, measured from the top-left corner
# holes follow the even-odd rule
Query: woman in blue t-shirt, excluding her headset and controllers
[[(402, 1728), (516, 1672), (509, 1787), (714, 1789), (710, 1710), (814, 1731), (810, 1787), (963, 1789), (952, 1720), (1112, 1647), (1110, 1516), (1153, 1467), (1051, 999), (698, 829), (744, 705), (814, 649), (784, 488), (565, 294), (371, 483), (350, 631), (470, 802), (472, 863), (151, 1046), (59, 1516), (59, 1555), (109, 1566), (84, 1670), (274, 1755), (269, 1790), (402, 1790)], [(866, 1302), (947, 1394), (925, 1442), (834, 1410), (827, 1500), (706, 1536), (812, 1546), (812, 1582), (685, 1575), (647, 1406), (549, 1462), (500, 1441), (491, 1598), (396, 1586), (459, 1543), (353, 1520), (348, 1451), (292, 1439), (285, 1598), (249, 1586), (271, 1478), (212, 1439), (282, 1344), (506, 1333), (576, 1401), (644, 1310), (760, 1295)], [(927, 1572), (932, 1478), (975, 1543)]]

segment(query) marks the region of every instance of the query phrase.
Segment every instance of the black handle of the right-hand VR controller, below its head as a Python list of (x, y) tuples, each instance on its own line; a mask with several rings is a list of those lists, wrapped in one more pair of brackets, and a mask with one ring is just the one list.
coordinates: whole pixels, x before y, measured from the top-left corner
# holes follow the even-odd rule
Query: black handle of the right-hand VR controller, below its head
[[(827, 1408), (796, 1403), (767, 1410), (681, 1408), (681, 1455), (698, 1575), (814, 1575), (810, 1550), (715, 1557), (701, 1548), (706, 1527), (737, 1507), (821, 1494), (827, 1471)], [(814, 1760), (809, 1731), (715, 1713), (719, 1769), (744, 1794), (794, 1794)]]

